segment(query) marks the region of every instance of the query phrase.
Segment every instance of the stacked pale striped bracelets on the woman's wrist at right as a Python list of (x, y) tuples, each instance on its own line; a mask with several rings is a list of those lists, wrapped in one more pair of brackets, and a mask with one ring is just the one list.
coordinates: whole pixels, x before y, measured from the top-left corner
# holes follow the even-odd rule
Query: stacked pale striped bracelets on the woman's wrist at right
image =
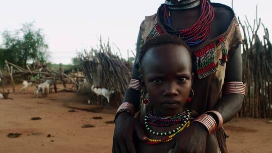
[[(213, 113), (217, 116), (219, 121), (218, 125), (216, 120), (211, 115), (208, 115), (207, 113)], [(203, 124), (209, 131), (209, 134), (212, 134), (216, 129), (221, 128), (223, 124), (223, 118), (221, 114), (218, 113), (217, 111), (205, 112), (204, 114), (199, 115), (194, 121), (200, 122), (201, 124)]]

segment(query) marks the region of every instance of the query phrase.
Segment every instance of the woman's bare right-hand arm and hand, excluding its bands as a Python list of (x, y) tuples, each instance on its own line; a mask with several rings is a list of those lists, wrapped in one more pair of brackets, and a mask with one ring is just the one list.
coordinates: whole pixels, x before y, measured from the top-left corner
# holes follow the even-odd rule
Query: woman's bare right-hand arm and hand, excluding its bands
[[(227, 63), (225, 82), (242, 82), (241, 45), (239, 45)], [(223, 122), (227, 123), (239, 112), (243, 99), (244, 96), (241, 94), (224, 95), (213, 110), (218, 111), (223, 117)], [(193, 122), (182, 133), (177, 139), (177, 145), (174, 149), (175, 153), (205, 152), (209, 132), (203, 124)]]

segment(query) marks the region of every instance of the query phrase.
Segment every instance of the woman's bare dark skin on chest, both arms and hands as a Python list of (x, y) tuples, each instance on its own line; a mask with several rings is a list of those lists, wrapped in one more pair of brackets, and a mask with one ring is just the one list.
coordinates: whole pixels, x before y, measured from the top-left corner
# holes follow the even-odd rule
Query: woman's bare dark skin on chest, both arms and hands
[[(233, 18), (232, 13), (225, 8), (214, 8), (215, 19), (212, 22), (212, 30), (209, 38), (192, 49), (199, 49), (203, 44), (209, 42), (211, 39), (219, 36), (225, 32)], [(172, 25), (175, 29), (185, 29), (194, 24), (200, 14), (199, 7), (186, 11), (172, 12)], [(141, 31), (138, 37), (137, 50), (139, 50), (141, 40)], [(138, 54), (137, 54), (138, 57)], [(136, 58), (137, 59), (137, 58)], [(137, 62), (134, 62), (135, 64)], [(235, 75), (234, 75), (235, 74)], [(132, 78), (138, 78), (138, 70), (133, 67)], [(241, 58), (241, 45), (232, 55), (232, 58), (227, 63), (225, 82), (242, 82), (242, 58)], [(124, 97), (125, 102), (140, 99), (138, 91), (129, 90), (129, 94)], [(243, 102), (243, 95), (230, 94), (223, 96), (213, 110), (218, 111), (223, 117), (223, 123), (231, 120), (241, 109)], [(125, 132), (124, 132), (125, 131)], [(137, 135), (141, 140), (145, 140), (146, 135), (141, 129), (139, 122), (128, 113), (121, 113), (115, 121), (115, 129), (113, 136), (113, 152), (136, 152), (132, 136)], [(177, 152), (205, 152), (206, 140), (208, 131), (200, 123), (193, 122), (189, 128), (184, 130), (182, 136), (177, 137), (174, 153)]]

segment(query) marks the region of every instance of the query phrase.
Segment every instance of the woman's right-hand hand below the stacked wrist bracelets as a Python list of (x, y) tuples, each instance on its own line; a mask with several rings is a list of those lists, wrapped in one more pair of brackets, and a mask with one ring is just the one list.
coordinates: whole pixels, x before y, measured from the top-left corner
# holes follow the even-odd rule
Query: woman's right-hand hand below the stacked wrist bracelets
[(204, 125), (193, 122), (177, 137), (173, 153), (203, 153), (206, 149), (206, 140), (209, 133)]

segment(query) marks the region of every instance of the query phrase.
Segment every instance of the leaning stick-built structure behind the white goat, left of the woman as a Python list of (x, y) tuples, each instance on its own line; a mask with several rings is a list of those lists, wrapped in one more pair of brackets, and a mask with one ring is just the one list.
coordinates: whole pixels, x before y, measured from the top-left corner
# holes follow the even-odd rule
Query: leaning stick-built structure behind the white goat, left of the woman
[[(118, 49), (118, 48), (117, 48)], [(97, 49), (86, 50), (79, 54), (79, 62), (88, 81), (89, 88), (99, 86), (108, 90), (113, 89), (111, 103), (119, 106), (128, 87), (132, 66), (117, 53), (113, 53), (109, 42), (102, 44)]]

